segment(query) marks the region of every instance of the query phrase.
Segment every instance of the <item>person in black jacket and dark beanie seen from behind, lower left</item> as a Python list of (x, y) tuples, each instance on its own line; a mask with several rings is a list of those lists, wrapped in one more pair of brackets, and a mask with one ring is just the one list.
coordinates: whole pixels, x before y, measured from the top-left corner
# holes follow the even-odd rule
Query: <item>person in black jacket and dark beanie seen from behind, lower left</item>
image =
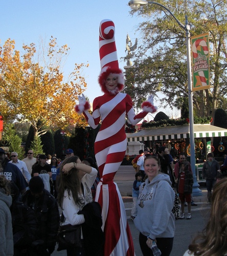
[[(22, 195), (22, 202), (34, 210), (38, 221), (37, 240), (44, 242), (38, 247), (39, 255), (50, 255), (55, 249), (60, 223), (56, 199), (44, 189), (42, 179), (34, 176), (29, 182), (29, 189)], [(37, 254), (37, 252), (34, 253), (34, 255)]]

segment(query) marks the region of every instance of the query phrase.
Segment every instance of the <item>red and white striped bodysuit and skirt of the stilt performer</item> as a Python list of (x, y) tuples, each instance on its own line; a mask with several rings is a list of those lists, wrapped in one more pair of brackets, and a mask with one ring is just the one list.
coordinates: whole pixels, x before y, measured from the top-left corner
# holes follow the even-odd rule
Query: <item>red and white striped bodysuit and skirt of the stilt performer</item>
[(113, 178), (125, 156), (127, 140), (125, 134), (125, 116), (134, 125), (141, 121), (147, 112), (138, 115), (132, 108), (128, 94), (105, 93), (95, 98), (93, 114), (83, 112), (87, 122), (100, 131), (95, 141), (95, 156), (101, 181), (96, 190), (96, 201), (102, 207), (103, 230), (105, 233), (104, 255), (134, 255), (131, 233), (127, 223), (124, 204), (120, 191)]

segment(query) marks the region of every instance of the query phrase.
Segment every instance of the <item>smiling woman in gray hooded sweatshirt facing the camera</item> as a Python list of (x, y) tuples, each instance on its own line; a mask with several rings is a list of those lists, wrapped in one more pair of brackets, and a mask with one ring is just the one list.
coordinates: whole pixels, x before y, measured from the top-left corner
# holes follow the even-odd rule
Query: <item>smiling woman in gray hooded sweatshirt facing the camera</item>
[(172, 213), (175, 193), (169, 175), (160, 173), (160, 161), (155, 156), (144, 160), (147, 179), (140, 186), (138, 215), (135, 227), (140, 231), (143, 255), (153, 255), (152, 244), (157, 244), (162, 256), (168, 256), (173, 247), (175, 218)]

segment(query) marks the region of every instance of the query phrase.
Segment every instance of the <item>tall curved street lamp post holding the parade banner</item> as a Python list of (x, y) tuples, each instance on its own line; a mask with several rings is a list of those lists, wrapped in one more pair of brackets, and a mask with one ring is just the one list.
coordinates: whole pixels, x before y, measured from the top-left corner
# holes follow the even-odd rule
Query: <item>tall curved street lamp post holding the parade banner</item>
[(156, 2), (144, 1), (144, 0), (130, 0), (128, 5), (132, 9), (139, 9), (141, 5), (154, 4), (159, 5), (166, 9), (171, 16), (176, 20), (177, 24), (185, 30), (186, 34), (186, 45), (187, 45), (187, 66), (188, 66), (188, 99), (189, 99), (189, 133), (190, 133), (190, 154), (191, 154), (191, 166), (193, 172), (193, 196), (201, 196), (202, 192), (198, 188), (199, 184), (197, 182), (197, 177), (195, 175), (195, 139), (194, 139), (194, 119), (193, 119), (193, 92), (192, 92), (192, 71), (191, 71), (191, 54), (190, 54), (190, 29), (191, 25), (188, 23), (188, 17), (185, 15), (185, 25), (181, 24), (179, 20), (173, 15), (173, 13), (166, 8), (164, 5), (161, 5)]

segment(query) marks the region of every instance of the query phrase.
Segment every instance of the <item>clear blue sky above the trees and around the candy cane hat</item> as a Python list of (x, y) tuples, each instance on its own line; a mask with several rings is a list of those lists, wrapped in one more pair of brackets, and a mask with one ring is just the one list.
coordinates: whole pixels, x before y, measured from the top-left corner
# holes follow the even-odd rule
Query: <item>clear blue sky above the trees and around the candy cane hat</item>
[(16, 42), (16, 50), (21, 50), (22, 44), (34, 42), (38, 46), (40, 38), (48, 42), (51, 36), (56, 37), (59, 46), (67, 44), (71, 49), (63, 68), (65, 75), (74, 70), (75, 63), (89, 63), (82, 75), (87, 82), (84, 94), (92, 102), (102, 95), (97, 82), (101, 20), (107, 18), (115, 23), (119, 67), (123, 70), (126, 62), (120, 58), (126, 56), (127, 33), (132, 44), (140, 37), (136, 31), (143, 18), (129, 14), (128, 1), (3, 0), (0, 5), (1, 45), (11, 38)]

